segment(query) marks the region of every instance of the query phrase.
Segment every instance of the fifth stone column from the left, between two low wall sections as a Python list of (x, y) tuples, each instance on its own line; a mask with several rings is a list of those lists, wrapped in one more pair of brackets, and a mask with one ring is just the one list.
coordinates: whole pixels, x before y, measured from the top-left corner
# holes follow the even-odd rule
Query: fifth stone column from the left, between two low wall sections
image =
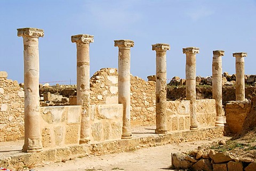
[(190, 100), (190, 130), (197, 130), (196, 123), (196, 54), (197, 47), (183, 48), (186, 54), (186, 99)]

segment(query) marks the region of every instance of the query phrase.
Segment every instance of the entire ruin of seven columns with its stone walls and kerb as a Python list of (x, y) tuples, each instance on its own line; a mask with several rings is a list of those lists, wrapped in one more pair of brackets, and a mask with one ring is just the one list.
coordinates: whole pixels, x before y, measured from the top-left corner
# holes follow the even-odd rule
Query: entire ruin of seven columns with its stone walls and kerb
[[(23, 38), (24, 84), (19, 86), (17, 81), (7, 79), (6, 72), (0, 72), (0, 142), (23, 139), (24, 144), (18, 157), (0, 159), (2, 167), (36, 159), (61, 161), (67, 157), (84, 157), (85, 153), (115, 152), (147, 143), (203, 140), (223, 136), (224, 132), (234, 134), (241, 130), (250, 111), (251, 101), (245, 98), (245, 79), (253, 76), (244, 76), (247, 53), (233, 53), (236, 101), (228, 101), (223, 107), (222, 86), (227, 78), (222, 75), (224, 51), (213, 51), (212, 77), (205, 79), (211, 80), (212, 98), (197, 99), (196, 86), (203, 80), (196, 77), (199, 48), (183, 48), (186, 80), (175, 77), (170, 83), (186, 85), (186, 100), (167, 101), (169, 44), (152, 45), (156, 52), (156, 73), (149, 81), (130, 73), (132, 40), (114, 40), (114, 46), (118, 47), (118, 69), (104, 68), (90, 78), (92, 35), (71, 36), (77, 49), (76, 95), (61, 96), (63, 105), (51, 106), (59, 96), (39, 93), (38, 39), (44, 37), (44, 31), (17, 30)], [(252, 82), (255, 81), (254, 77)], [(134, 135), (132, 127), (139, 126), (155, 126), (153, 135)]]

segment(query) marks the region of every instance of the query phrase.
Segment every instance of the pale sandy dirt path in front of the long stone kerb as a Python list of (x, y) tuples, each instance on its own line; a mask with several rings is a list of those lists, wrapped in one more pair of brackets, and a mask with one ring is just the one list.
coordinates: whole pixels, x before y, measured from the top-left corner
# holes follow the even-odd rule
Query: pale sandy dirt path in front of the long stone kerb
[(171, 166), (171, 153), (189, 151), (201, 146), (229, 138), (167, 144), (136, 151), (89, 156), (37, 167), (35, 170), (166, 170)]

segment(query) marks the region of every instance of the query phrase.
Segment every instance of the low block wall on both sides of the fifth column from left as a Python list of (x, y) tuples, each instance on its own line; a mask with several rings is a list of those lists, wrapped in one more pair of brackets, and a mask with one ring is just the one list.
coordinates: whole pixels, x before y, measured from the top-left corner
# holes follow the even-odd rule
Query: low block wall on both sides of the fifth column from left
[[(167, 101), (166, 106), (168, 131), (189, 130), (190, 101)], [(196, 118), (199, 128), (214, 126), (216, 119), (215, 100), (196, 100)]]

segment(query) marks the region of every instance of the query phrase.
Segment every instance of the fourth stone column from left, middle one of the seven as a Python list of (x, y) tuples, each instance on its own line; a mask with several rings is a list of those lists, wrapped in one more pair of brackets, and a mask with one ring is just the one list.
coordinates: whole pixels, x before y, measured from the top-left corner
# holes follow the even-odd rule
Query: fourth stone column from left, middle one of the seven
[(156, 130), (155, 133), (167, 133), (166, 125), (166, 51), (169, 44), (152, 45), (156, 50)]

